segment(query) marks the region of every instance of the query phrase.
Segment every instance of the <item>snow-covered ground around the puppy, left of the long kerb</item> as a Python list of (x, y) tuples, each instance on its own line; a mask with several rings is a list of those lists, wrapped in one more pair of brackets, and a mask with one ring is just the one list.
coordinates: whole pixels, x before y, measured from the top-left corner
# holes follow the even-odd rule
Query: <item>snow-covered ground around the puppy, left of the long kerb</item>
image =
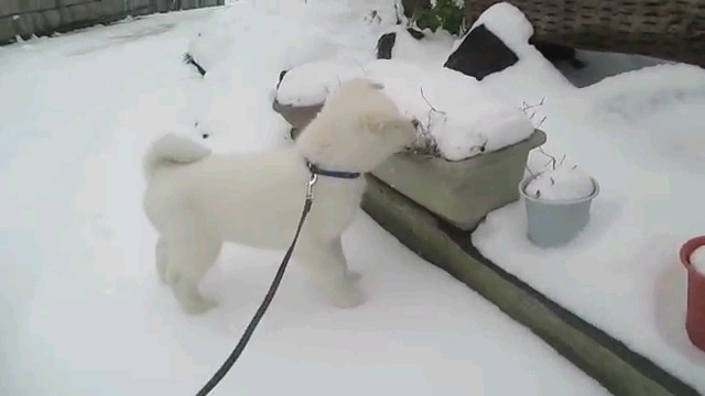
[[(288, 144), (269, 96), (281, 65), (267, 64), (281, 48), (232, 61), (215, 108), (199, 90), (215, 81), (181, 63), (214, 12), (0, 47), (0, 394), (194, 394), (263, 296), (281, 252), (228, 246), (203, 285), (220, 308), (184, 316), (155, 276), (141, 210), (147, 144), (193, 132), (202, 111), (227, 116), (206, 141), (218, 150)], [(328, 307), (294, 263), (214, 394), (606, 394), (364, 213), (344, 243), (368, 302)]]

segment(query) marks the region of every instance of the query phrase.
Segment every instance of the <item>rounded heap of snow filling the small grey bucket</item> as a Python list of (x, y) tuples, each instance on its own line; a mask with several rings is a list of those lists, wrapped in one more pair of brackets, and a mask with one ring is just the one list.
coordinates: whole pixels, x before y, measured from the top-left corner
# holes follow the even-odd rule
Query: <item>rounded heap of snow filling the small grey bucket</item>
[(538, 174), (524, 193), (541, 200), (567, 201), (589, 197), (595, 193), (595, 185), (583, 169), (563, 164)]

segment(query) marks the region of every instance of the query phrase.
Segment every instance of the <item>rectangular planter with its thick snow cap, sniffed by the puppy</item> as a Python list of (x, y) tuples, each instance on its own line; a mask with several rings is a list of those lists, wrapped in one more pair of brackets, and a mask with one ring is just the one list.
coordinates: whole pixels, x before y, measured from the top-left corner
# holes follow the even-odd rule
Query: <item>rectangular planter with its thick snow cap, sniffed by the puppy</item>
[(400, 110), (422, 123), (414, 146), (391, 156), (372, 175), (464, 230), (519, 199), (517, 186), (529, 152), (546, 139), (521, 108), (445, 68), (429, 72), (393, 61), (334, 66), (304, 65), (280, 81), (273, 108), (292, 124), (293, 138), (344, 80), (364, 76), (381, 82)]

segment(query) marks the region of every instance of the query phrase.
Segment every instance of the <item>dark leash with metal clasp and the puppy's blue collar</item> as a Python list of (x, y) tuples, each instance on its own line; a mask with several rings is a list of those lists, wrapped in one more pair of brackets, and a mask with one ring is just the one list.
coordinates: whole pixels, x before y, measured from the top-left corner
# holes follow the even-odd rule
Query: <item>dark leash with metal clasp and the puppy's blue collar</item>
[(291, 245), (286, 250), (286, 254), (284, 254), (284, 258), (282, 258), (282, 263), (279, 265), (279, 270), (276, 270), (276, 275), (274, 275), (274, 279), (264, 296), (264, 299), (260, 304), (260, 307), (254, 312), (254, 316), (250, 320), (250, 323), (245, 329), (242, 337), (240, 337), (240, 341), (235, 346), (228, 359), (223, 363), (220, 369), (210, 377), (210, 380), (204, 385), (203, 388), (196, 394), (196, 396), (206, 396), (213, 391), (223, 378), (228, 374), (235, 362), (240, 358), (242, 351), (245, 351), (245, 346), (247, 346), (250, 338), (254, 333), (254, 329), (259, 324), (260, 320), (267, 312), (270, 304), (274, 299), (274, 294), (276, 294), (276, 289), (279, 285), (282, 283), (282, 278), (284, 277), (284, 272), (286, 271), (286, 265), (289, 265), (289, 261), (291, 260), (292, 254), (294, 253), (294, 248), (296, 246), (296, 241), (299, 241), (299, 234), (301, 234), (301, 229), (304, 226), (304, 221), (311, 211), (311, 207), (313, 206), (313, 186), (318, 180), (318, 175), (337, 177), (337, 178), (346, 178), (354, 179), (360, 176), (360, 173), (354, 172), (334, 172), (334, 170), (325, 170), (313, 163), (306, 161), (306, 166), (308, 167), (308, 172), (311, 175), (308, 176), (308, 184), (306, 185), (306, 200), (304, 201), (304, 209), (301, 213), (301, 218), (299, 219), (299, 226), (296, 226), (296, 233), (294, 234), (294, 239), (291, 241)]

